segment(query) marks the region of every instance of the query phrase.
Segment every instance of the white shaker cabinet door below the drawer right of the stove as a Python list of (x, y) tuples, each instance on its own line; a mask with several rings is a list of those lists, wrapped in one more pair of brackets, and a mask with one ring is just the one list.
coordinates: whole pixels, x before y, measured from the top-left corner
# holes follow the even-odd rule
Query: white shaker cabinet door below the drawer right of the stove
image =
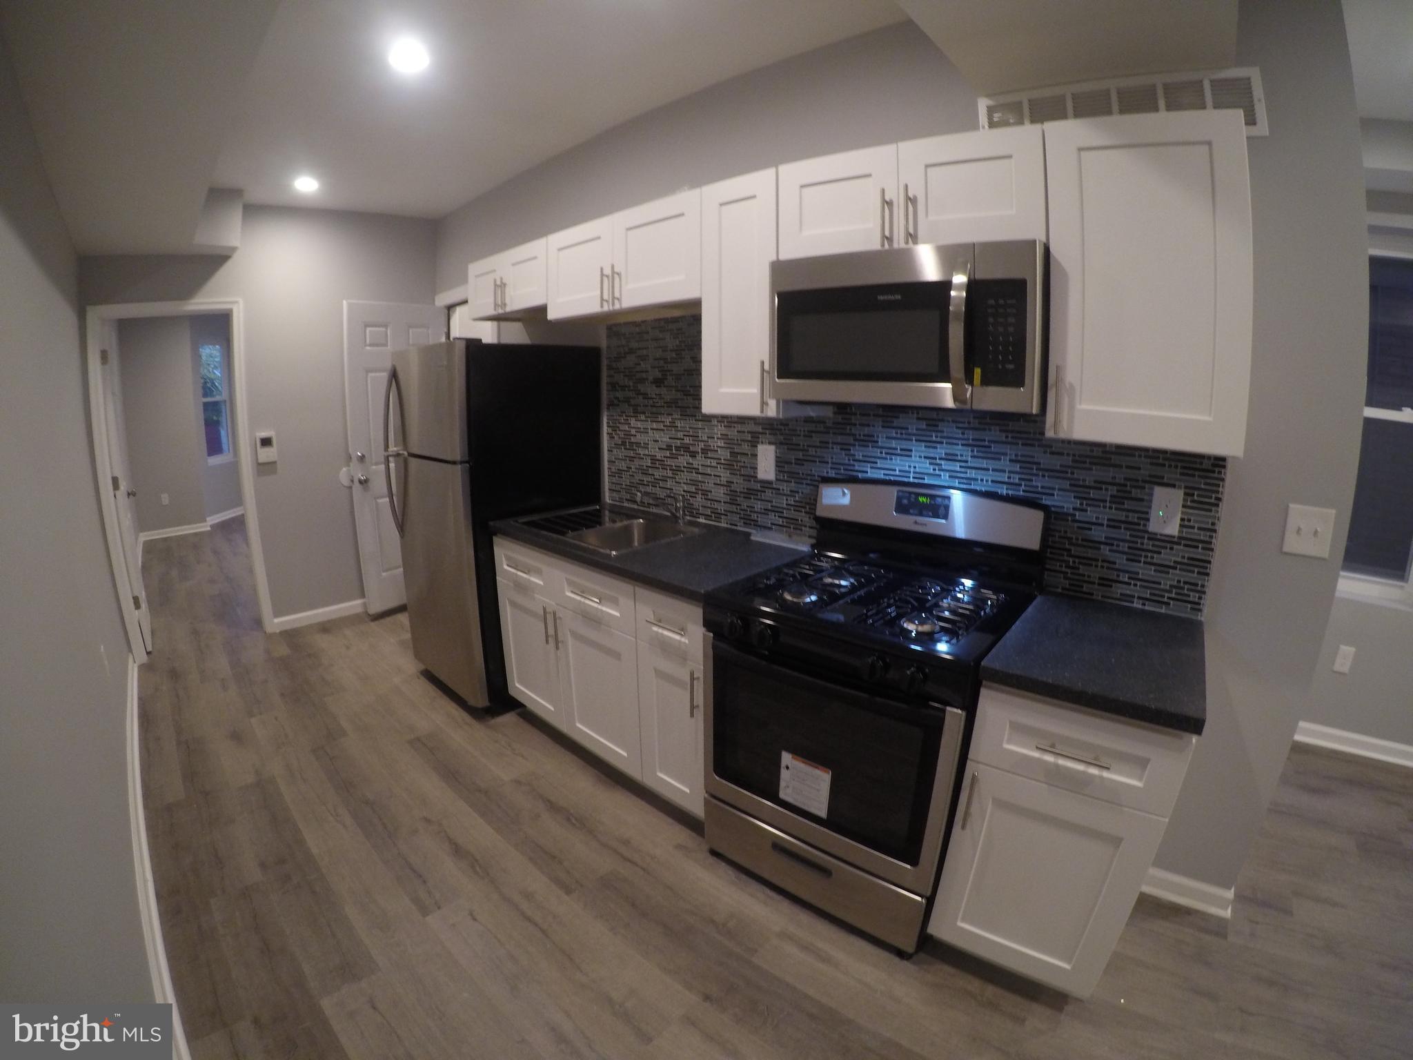
[(1161, 817), (968, 763), (928, 934), (1087, 998), (1166, 825)]

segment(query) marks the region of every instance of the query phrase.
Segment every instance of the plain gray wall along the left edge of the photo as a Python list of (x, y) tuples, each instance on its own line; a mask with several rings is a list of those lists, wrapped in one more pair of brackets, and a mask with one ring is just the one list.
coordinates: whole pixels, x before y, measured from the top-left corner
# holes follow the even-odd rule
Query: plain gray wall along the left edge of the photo
[(73, 247), (0, 45), (0, 998), (153, 999)]

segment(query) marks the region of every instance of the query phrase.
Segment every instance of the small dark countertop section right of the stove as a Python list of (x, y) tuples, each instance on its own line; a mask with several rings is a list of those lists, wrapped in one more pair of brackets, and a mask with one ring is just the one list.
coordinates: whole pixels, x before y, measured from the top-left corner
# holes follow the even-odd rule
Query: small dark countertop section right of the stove
[(1040, 596), (991, 650), (983, 683), (1201, 735), (1202, 623), (1122, 603)]

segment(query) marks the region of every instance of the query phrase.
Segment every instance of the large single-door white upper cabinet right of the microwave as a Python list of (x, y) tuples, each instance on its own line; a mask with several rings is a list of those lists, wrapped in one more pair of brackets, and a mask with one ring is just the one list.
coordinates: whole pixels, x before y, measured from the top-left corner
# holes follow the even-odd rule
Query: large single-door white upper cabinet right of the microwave
[(1043, 129), (1050, 432), (1239, 457), (1252, 329), (1241, 113)]

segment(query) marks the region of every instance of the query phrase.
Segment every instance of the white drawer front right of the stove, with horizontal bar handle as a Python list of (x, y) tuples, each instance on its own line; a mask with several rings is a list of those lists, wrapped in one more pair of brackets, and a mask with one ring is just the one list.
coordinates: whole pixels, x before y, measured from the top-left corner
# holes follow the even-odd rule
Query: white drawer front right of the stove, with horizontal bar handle
[(986, 685), (971, 762), (1166, 818), (1197, 738)]

